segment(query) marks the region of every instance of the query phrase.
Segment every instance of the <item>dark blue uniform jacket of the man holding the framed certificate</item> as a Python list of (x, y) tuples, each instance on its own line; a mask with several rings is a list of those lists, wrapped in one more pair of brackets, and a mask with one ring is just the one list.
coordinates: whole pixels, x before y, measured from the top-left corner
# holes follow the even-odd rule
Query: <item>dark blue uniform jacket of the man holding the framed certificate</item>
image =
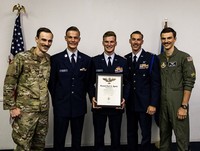
[[(130, 90), (130, 84), (128, 81), (128, 67), (126, 59), (116, 55), (114, 56), (112, 69), (111, 71), (108, 70), (108, 66), (106, 64), (106, 60), (104, 58), (104, 54), (95, 56), (92, 58), (92, 65), (93, 65), (93, 76), (91, 81), (91, 88), (90, 88), (90, 99), (92, 97), (95, 97), (95, 83), (96, 83), (96, 74), (97, 73), (109, 73), (109, 74), (123, 74), (123, 98), (125, 101), (128, 99), (129, 90)], [(101, 113), (115, 113), (119, 112), (119, 110), (116, 111), (115, 108), (102, 108), (102, 109), (93, 109), (93, 111), (99, 111)], [(120, 110), (121, 111), (121, 110)]]

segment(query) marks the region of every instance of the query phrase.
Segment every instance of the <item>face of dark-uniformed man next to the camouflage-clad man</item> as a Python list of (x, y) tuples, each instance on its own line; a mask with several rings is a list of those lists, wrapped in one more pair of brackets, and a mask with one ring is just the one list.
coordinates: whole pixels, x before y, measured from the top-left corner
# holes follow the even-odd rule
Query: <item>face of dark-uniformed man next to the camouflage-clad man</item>
[(65, 36), (65, 40), (67, 42), (67, 48), (70, 51), (77, 50), (79, 41), (80, 41), (80, 34), (77, 31), (68, 31), (67, 35)]

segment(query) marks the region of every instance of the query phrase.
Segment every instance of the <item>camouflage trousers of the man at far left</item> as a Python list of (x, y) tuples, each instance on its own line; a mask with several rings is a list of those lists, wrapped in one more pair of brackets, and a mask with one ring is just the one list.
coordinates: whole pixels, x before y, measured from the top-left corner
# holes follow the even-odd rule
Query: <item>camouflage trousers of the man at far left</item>
[(12, 137), (17, 144), (15, 151), (44, 150), (48, 131), (48, 112), (23, 112), (21, 117), (14, 120)]

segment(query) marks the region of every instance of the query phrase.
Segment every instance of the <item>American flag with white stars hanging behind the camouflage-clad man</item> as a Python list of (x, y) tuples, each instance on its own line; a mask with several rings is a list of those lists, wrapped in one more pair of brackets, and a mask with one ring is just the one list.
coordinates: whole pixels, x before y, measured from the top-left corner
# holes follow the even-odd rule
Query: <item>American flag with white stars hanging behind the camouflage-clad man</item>
[(15, 20), (9, 60), (11, 61), (17, 53), (22, 51), (24, 51), (24, 41), (19, 14)]

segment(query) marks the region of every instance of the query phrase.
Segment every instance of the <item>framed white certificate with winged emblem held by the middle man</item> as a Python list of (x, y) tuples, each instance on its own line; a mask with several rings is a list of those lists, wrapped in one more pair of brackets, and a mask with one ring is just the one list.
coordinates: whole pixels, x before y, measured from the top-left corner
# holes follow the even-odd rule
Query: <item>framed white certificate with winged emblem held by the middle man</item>
[(122, 101), (122, 74), (97, 74), (96, 100), (99, 107), (120, 107)]

